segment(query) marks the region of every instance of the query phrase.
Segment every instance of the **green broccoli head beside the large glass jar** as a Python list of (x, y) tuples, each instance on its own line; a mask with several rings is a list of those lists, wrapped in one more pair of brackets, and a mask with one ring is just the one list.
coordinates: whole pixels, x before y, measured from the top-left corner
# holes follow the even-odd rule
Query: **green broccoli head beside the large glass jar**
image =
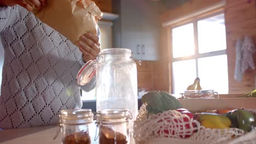
[(148, 115), (182, 108), (181, 103), (167, 92), (149, 92), (143, 95), (142, 103), (147, 104)]

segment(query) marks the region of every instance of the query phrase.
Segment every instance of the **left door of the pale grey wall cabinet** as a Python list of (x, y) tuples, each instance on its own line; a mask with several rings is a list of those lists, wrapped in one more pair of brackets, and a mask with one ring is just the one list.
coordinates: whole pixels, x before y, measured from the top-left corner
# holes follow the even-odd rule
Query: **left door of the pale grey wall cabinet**
[(141, 21), (135, 0), (121, 1), (121, 46), (131, 49), (136, 59), (141, 59)]

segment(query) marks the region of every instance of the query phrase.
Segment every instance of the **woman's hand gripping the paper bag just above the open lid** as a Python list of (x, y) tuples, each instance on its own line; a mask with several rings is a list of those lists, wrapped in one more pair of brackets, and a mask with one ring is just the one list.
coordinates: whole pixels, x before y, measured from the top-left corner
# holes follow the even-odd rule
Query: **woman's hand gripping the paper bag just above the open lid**
[(98, 37), (91, 33), (82, 35), (78, 41), (79, 50), (83, 53), (83, 59), (85, 62), (95, 59), (98, 53), (101, 51)]

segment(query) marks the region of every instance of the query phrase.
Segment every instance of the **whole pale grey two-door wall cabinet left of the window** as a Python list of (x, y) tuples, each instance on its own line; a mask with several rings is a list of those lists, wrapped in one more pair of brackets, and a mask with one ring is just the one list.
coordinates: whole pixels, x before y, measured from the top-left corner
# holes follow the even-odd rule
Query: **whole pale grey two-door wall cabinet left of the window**
[(113, 45), (131, 49), (135, 58), (156, 61), (159, 47), (158, 3), (120, 0), (113, 9), (120, 15), (113, 23)]

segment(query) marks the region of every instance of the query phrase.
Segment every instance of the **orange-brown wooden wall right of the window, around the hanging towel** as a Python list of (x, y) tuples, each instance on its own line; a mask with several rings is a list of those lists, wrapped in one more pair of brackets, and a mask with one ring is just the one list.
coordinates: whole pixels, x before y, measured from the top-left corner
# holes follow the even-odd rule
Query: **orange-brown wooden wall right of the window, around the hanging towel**
[[(225, 7), (226, 45), (229, 68), (229, 92), (246, 93), (254, 89), (255, 71), (247, 70), (242, 82), (234, 79), (236, 60), (236, 40), (251, 35), (256, 42), (256, 5), (255, 1), (226, 1)], [(256, 43), (255, 43), (256, 44)]]

